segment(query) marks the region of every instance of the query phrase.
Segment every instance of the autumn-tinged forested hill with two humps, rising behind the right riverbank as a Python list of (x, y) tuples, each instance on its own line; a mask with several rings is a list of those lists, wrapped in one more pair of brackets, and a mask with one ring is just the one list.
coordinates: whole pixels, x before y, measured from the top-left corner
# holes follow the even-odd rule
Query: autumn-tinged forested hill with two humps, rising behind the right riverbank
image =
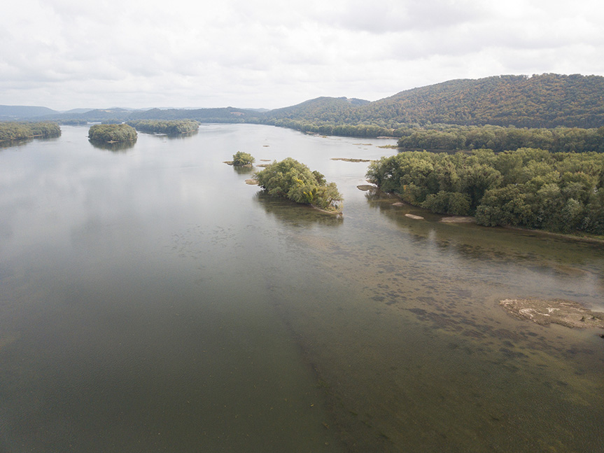
[(604, 125), (604, 77), (493, 76), (428, 85), (367, 104), (321, 97), (267, 113), (274, 121), (371, 124), (514, 125), (600, 127)]

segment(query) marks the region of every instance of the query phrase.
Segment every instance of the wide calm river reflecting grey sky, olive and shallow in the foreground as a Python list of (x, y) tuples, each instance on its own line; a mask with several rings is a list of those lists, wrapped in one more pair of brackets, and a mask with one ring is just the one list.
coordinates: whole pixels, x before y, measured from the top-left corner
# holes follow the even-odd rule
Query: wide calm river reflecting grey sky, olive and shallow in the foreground
[[(202, 125), (0, 149), (0, 452), (602, 452), (604, 247), (357, 188), (388, 139)], [(344, 216), (223, 161), (288, 156)], [(419, 214), (414, 220), (405, 214)]]

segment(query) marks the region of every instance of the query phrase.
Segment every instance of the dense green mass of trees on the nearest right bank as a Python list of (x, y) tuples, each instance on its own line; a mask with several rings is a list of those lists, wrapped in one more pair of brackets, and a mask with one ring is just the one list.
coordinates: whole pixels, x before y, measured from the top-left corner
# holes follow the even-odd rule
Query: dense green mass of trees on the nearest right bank
[(409, 204), (480, 225), (604, 235), (604, 154), (521, 148), (496, 154), (398, 153), (367, 179)]

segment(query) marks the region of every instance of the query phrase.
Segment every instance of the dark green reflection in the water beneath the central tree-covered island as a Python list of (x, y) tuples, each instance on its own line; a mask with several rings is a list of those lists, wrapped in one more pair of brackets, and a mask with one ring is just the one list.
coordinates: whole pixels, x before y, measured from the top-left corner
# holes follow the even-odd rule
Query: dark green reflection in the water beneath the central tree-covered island
[(264, 190), (254, 197), (267, 214), (272, 214), (279, 221), (288, 225), (311, 227), (313, 225), (342, 225), (342, 216), (318, 211), (305, 204), (299, 204), (282, 197), (273, 197)]

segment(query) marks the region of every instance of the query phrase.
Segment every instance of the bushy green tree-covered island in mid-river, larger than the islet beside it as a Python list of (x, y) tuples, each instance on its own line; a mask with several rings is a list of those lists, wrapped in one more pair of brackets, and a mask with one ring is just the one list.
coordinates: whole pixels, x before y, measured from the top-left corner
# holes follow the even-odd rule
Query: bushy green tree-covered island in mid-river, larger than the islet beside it
[(269, 195), (286, 197), (301, 204), (309, 204), (323, 211), (342, 213), (342, 195), (335, 183), (327, 183), (325, 176), (293, 158), (273, 162), (254, 175), (258, 186)]

